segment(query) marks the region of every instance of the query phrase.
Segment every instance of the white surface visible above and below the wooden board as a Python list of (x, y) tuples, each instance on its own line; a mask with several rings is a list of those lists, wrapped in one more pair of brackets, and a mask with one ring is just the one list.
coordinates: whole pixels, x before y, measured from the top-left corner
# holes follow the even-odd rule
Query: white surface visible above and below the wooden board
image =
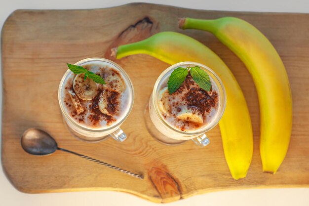
[[(131, 0), (0, 0), (0, 26), (16, 9), (104, 8)], [(186, 8), (309, 13), (308, 0), (144, 0)], [(309, 20), (309, 19), (308, 19)], [(309, 36), (308, 36), (309, 37)], [(1, 80), (0, 80), (1, 81)], [(2, 84), (1, 84), (2, 85)], [(2, 91), (2, 89), (0, 90)], [(2, 98), (2, 95), (0, 95)], [(1, 102), (1, 101), (0, 101)], [(156, 206), (120, 192), (74, 192), (29, 195), (18, 192), (0, 170), (0, 206)], [(309, 206), (309, 188), (251, 189), (208, 193), (167, 206)]]

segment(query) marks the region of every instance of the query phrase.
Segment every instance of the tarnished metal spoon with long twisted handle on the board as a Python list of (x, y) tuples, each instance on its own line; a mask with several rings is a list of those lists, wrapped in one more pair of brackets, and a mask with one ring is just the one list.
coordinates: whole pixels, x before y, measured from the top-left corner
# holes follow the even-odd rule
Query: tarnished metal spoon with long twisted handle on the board
[(142, 174), (136, 174), (134, 172), (130, 172), (128, 170), (122, 169), (120, 167), (102, 162), (100, 160), (85, 156), (85, 155), (81, 155), (79, 153), (70, 151), (70, 150), (66, 150), (63, 148), (59, 148), (57, 146), (57, 142), (55, 141), (54, 138), (52, 138), (52, 136), (50, 136), (47, 132), (40, 130), (40, 129), (36, 129), (36, 128), (30, 128), (27, 129), (22, 138), (21, 138), (21, 146), (22, 148), (28, 152), (29, 154), (32, 155), (37, 155), (37, 156), (42, 156), (42, 155), (49, 155), (54, 153), (56, 150), (61, 150), (64, 152), (68, 152), (74, 155), (77, 155), (85, 160), (89, 160), (93, 163), (97, 163), (103, 166), (107, 166), (110, 167), (112, 169), (116, 169), (120, 172), (126, 173), (130, 176), (136, 177), (136, 178), (140, 178), (143, 179), (144, 176)]

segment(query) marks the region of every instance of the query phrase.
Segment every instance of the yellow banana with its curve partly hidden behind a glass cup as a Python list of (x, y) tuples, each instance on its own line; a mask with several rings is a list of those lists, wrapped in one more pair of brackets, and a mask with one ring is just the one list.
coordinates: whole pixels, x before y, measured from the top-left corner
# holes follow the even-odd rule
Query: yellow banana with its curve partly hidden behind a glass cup
[(227, 92), (226, 110), (219, 122), (226, 161), (234, 179), (246, 176), (253, 153), (250, 115), (240, 86), (219, 56), (199, 41), (175, 32), (161, 32), (143, 41), (121, 45), (114, 53), (117, 59), (144, 53), (168, 64), (194, 61), (213, 69)]

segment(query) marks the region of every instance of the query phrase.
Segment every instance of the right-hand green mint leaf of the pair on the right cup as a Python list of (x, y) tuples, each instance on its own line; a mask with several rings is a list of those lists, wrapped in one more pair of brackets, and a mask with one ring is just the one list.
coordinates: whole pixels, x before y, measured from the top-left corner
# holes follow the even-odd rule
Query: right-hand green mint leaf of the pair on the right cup
[(210, 82), (208, 74), (204, 70), (202, 70), (198, 66), (191, 67), (190, 74), (194, 82), (196, 82), (199, 87), (201, 87), (205, 91), (210, 90), (211, 82)]

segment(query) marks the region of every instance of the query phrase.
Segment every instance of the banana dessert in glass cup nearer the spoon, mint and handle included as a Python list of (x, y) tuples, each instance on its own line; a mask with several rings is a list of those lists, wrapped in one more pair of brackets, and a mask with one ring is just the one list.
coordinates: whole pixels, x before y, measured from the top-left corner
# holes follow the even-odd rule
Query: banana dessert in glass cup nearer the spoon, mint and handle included
[(102, 140), (115, 131), (116, 139), (119, 134), (125, 135), (119, 125), (130, 113), (134, 99), (132, 83), (125, 71), (102, 58), (68, 66), (71, 71), (64, 75), (58, 97), (71, 131), (86, 141)]

